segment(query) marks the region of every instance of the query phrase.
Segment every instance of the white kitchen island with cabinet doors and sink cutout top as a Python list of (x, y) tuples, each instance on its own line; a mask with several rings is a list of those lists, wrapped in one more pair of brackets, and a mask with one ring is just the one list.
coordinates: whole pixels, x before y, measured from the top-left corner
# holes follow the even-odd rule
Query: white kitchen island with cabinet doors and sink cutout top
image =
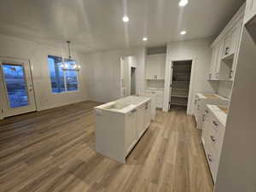
[(125, 164), (151, 121), (151, 99), (127, 96), (95, 108), (96, 152)]

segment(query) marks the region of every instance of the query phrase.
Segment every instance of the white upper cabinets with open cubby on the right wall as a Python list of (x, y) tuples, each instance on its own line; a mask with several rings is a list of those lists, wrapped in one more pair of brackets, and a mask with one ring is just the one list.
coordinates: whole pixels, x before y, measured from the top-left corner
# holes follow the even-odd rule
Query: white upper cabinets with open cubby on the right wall
[(234, 79), (243, 15), (244, 5), (212, 43), (212, 62), (209, 80), (230, 81)]

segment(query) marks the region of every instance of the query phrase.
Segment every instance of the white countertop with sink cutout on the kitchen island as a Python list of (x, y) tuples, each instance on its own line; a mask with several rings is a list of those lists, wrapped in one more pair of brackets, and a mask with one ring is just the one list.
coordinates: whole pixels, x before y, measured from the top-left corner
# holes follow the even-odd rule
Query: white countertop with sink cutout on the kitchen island
[(115, 113), (129, 113), (148, 101), (150, 101), (150, 98), (146, 96), (126, 96), (113, 102), (97, 106), (95, 109), (102, 109)]

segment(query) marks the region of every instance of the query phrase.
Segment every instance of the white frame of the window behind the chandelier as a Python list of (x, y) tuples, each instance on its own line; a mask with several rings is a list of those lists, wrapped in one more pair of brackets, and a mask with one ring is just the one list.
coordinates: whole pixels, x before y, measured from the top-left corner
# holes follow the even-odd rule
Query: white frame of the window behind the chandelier
[[(65, 86), (65, 91), (61, 91), (61, 92), (53, 92), (53, 89), (52, 89), (52, 85), (51, 85), (51, 79), (50, 79), (50, 68), (49, 68), (49, 61), (48, 61), (48, 58), (49, 58), (49, 55), (51, 56), (56, 56), (56, 57), (61, 57), (61, 61), (63, 62), (64, 59), (68, 59), (68, 56), (67, 55), (58, 55), (58, 54), (52, 54), (52, 53), (48, 53), (47, 54), (47, 66), (48, 66), (48, 75), (49, 75), (49, 86), (50, 86), (50, 91), (52, 94), (67, 94), (67, 93), (76, 93), (76, 92), (79, 92), (80, 91), (80, 75), (79, 75), (79, 71), (80, 70), (72, 70), (72, 69), (66, 69), (66, 70), (63, 70), (63, 74), (64, 74), (64, 86)], [(77, 61), (76, 59), (73, 59), (74, 61)], [(77, 83), (78, 83), (78, 90), (67, 90), (67, 75), (66, 75), (66, 71), (76, 71), (77, 72)]]

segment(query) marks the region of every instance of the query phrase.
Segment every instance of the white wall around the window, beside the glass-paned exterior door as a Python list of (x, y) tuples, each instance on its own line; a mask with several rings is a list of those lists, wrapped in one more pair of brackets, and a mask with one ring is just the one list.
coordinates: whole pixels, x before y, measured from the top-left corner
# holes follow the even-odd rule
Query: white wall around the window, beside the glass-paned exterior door
[[(79, 92), (61, 94), (51, 92), (47, 55), (67, 56), (66, 44), (52, 46), (3, 35), (0, 35), (0, 42), (1, 56), (30, 60), (38, 110), (55, 108), (87, 99), (86, 83), (83, 75), (86, 69), (83, 63), (81, 63), (82, 67), (79, 72)], [(79, 55), (75, 55), (74, 58), (80, 61)]]

